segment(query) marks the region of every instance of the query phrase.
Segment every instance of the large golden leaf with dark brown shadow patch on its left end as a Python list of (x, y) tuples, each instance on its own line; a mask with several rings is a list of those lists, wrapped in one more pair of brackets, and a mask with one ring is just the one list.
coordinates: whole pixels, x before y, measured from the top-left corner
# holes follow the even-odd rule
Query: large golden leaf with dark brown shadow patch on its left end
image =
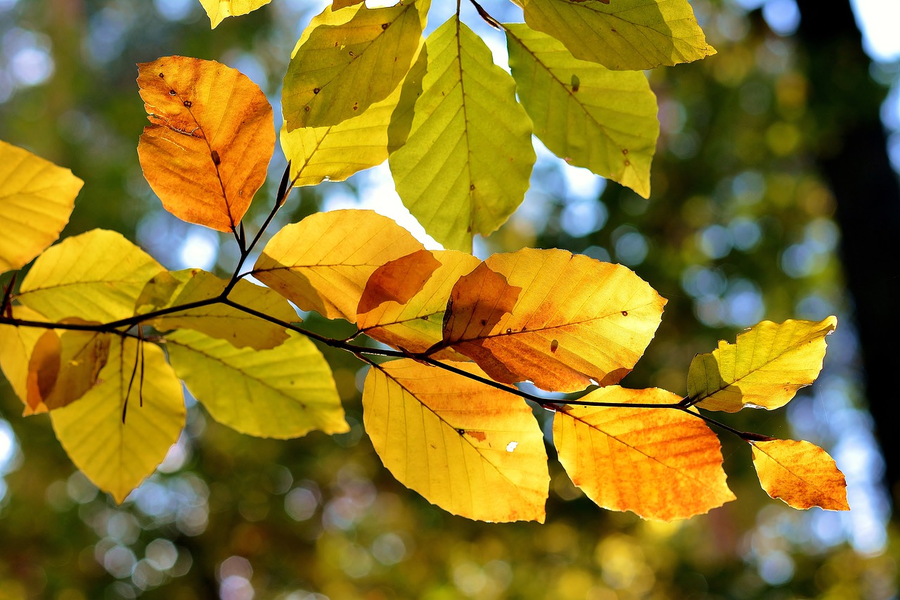
[(451, 302), (443, 346), (497, 381), (559, 392), (625, 377), (666, 303), (626, 267), (530, 248), (485, 260), (457, 282)]

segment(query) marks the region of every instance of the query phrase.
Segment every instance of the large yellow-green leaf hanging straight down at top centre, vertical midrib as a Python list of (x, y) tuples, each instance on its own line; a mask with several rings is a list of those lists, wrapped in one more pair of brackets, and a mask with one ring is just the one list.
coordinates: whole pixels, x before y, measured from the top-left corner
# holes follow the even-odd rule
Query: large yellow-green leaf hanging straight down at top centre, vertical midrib
[(390, 158), (397, 193), (446, 248), (506, 223), (528, 188), (535, 150), (516, 84), (456, 16), (428, 36), (428, 73), (409, 137)]

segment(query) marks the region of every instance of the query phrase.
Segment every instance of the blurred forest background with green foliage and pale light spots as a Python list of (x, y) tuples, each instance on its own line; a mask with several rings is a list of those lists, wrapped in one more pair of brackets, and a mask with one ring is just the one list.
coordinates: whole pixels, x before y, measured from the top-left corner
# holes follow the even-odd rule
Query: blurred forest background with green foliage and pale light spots
[[(0, 139), (85, 179), (64, 234), (109, 228), (167, 268), (228, 273), (229, 237), (163, 212), (141, 175), (135, 148), (146, 121), (134, 65), (170, 54), (220, 60), (256, 81), (279, 114), (290, 51), (322, 6), (312, 4), (273, 0), (211, 32), (194, 0), (0, 0)], [(690, 359), (716, 340), (762, 319), (838, 314), (815, 386), (786, 410), (726, 419), (830, 450), (847, 475), (851, 513), (770, 500), (746, 445), (724, 437), (738, 500), (711, 514), (648, 523), (609, 513), (552, 464), (546, 524), (473, 523), (428, 505), (381, 466), (361, 426), (365, 372), (329, 349), (351, 432), (257, 440), (191, 403), (181, 441), (116, 506), (75, 471), (46, 415), (23, 419), (0, 381), (0, 598), (896, 597), (896, 434), (878, 415), (896, 399), (884, 385), (897, 351), (873, 345), (866, 323), (875, 321), (878, 339), (887, 332), (876, 317), (896, 309), (900, 282), (900, 196), (883, 129), (900, 129), (896, 92), (885, 102), (900, 66), (896, 56), (870, 62), (862, 53), (849, 6), (692, 5), (719, 53), (649, 73), (662, 122), (652, 198), (539, 148), (525, 203), (476, 249), (583, 252), (626, 264), (668, 298), (627, 386), (683, 394)], [(521, 20), (511, 4), (486, 8)], [(464, 20), (505, 64), (500, 34), (470, 9)], [(429, 29), (452, 11), (436, 3)], [(840, 35), (822, 35), (823, 18)], [(857, 135), (867, 127), (874, 138)], [(900, 149), (896, 133), (889, 141)], [(283, 169), (276, 150), (247, 223), (265, 217)], [(402, 216), (386, 169), (376, 168), (294, 192), (272, 231), (345, 206)], [(315, 315), (308, 324), (340, 329)]]

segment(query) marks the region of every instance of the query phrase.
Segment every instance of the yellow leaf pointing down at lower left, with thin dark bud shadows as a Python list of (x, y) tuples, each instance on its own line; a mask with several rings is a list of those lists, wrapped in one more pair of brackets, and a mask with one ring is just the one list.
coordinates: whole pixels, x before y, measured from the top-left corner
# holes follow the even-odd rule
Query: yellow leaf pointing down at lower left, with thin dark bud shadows
[(138, 344), (113, 341), (101, 383), (50, 413), (75, 466), (119, 504), (166, 458), (184, 428), (181, 382), (162, 350), (146, 342), (139, 350)]

